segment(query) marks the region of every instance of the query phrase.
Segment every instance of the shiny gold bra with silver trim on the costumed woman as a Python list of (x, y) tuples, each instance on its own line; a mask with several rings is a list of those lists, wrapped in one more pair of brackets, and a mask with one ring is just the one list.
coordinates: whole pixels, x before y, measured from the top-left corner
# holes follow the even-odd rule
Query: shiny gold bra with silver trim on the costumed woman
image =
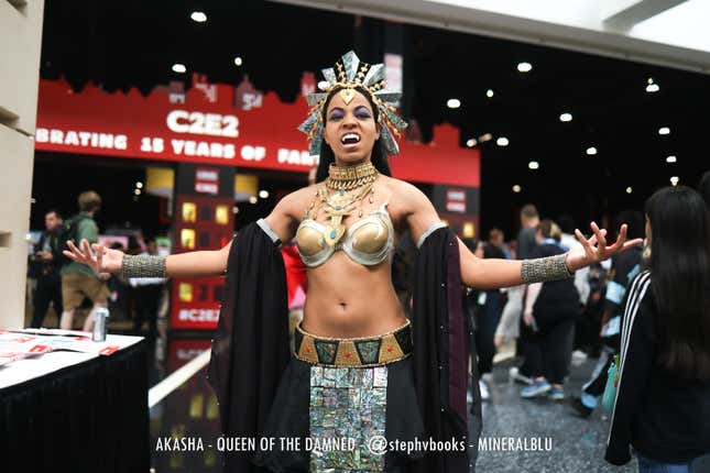
[(304, 219), (296, 231), (296, 245), (303, 263), (308, 267), (319, 266), (338, 250), (365, 266), (382, 263), (394, 251), (394, 228), (386, 205), (382, 204), (378, 210), (354, 222), (334, 246), (326, 244), (324, 237), (330, 231), (328, 227)]

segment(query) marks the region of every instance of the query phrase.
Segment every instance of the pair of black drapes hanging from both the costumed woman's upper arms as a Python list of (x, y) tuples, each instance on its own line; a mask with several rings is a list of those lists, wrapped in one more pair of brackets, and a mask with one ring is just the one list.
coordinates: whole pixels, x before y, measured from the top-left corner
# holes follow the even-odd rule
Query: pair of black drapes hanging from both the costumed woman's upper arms
[[(286, 273), (280, 245), (256, 223), (242, 229), (232, 242), (208, 374), (226, 437), (260, 436), (288, 363)], [(458, 241), (448, 228), (434, 231), (419, 248), (413, 293), (414, 378), (425, 431), (435, 441), (472, 444), (474, 452), (480, 399), (473, 383), (469, 438), (469, 337), (461, 309)], [(413, 462), (412, 471), (468, 472), (474, 459), (467, 450), (429, 453)], [(249, 461), (251, 455), (226, 453), (225, 471), (265, 472)]]

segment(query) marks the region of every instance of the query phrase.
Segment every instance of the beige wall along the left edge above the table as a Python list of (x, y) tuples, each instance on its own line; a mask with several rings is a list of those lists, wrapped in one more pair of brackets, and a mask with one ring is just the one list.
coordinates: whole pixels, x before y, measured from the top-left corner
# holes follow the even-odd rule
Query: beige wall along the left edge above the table
[(0, 328), (24, 324), (42, 0), (0, 0)]

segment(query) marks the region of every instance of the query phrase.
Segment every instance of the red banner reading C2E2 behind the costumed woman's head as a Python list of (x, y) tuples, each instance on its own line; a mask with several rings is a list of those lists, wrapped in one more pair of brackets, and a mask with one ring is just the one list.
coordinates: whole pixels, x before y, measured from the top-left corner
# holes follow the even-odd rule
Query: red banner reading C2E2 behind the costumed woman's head
[[(74, 92), (41, 80), (35, 148), (63, 153), (307, 172), (315, 163), (296, 127), (306, 100), (240, 95), (229, 85), (198, 82), (189, 91), (156, 88), (108, 94), (94, 85)], [(248, 110), (244, 110), (248, 109)], [(429, 144), (402, 141), (391, 158), (395, 177), (479, 187), (480, 154), (459, 146), (459, 131), (435, 127)]]

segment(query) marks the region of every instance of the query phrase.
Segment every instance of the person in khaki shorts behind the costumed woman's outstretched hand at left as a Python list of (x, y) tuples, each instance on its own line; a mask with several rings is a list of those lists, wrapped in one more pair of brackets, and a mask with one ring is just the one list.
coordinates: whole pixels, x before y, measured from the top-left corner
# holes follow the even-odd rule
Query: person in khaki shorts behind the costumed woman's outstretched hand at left
[[(94, 190), (81, 193), (78, 198), (79, 213), (68, 219), (62, 229), (59, 237), (61, 248), (67, 249), (67, 242), (72, 241), (78, 244), (81, 240), (97, 243), (99, 238), (99, 228), (94, 221), (94, 216), (101, 208), (101, 196)], [(72, 330), (74, 323), (74, 314), (81, 305), (85, 297), (91, 299), (94, 307), (84, 322), (84, 330), (90, 331), (92, 328), (92, 315), (98, 308), (108, 307), (109, 288), (106, 279), (97, 274), (90, 267), (70, 261), (66, 256), (62, 266), (62, 299), (64, 301), (64, 311), (62, 312), (61, 327), (64, 330)]]

